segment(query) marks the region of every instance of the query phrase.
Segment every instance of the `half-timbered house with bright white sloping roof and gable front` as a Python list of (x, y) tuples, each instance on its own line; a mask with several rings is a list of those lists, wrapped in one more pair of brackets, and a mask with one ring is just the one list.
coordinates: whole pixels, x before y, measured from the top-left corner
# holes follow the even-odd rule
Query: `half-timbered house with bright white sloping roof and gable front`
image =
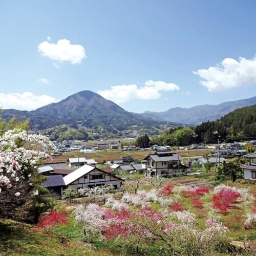
[(73, 189), (88, 188), (109, 183), (115, 188), (120, 188), (123, 181), (121, 178), (89, 164), (84, 164), (74, 170), (71, 174), (63, 177), (63, 180), (67, 188)]

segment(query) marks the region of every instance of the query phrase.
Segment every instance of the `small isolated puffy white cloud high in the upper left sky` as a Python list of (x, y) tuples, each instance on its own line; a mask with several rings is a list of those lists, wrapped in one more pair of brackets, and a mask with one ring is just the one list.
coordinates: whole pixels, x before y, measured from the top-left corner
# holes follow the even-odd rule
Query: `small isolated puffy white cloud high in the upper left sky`
[(57, 44), (44, 41), (37, 49), (43, 56), (59, 62), (69, 61), (72, 64), (79, 64), (83, 58), (87, 58), (86, 50), (81, 45), (72, 45), (67, 39), (60, 39)]

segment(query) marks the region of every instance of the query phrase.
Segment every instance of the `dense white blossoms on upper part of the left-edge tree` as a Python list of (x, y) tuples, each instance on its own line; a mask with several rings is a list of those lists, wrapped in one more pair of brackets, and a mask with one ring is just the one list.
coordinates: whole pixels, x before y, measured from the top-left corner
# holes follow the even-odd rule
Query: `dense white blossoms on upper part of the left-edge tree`
[[(9, 189), (14, 182), (29, 178), (31, 174), (27, 170), (35, 167), (40, 157), (50, 159), (50, 156), (44, 152), (18, 147), (16, 143), (18, 139), (23, 142), (36, 142), (44, 148), (54, 147), (47, 137), (28, 134), (27, 131), (18, 129), (10, 130), (2, 137), (0, 136), (0, 193), (4, 187)], [(30, 185), (33, 184), (30, 182)], [(20, 193), (17, 191), (15, 196), (19, 195)]]

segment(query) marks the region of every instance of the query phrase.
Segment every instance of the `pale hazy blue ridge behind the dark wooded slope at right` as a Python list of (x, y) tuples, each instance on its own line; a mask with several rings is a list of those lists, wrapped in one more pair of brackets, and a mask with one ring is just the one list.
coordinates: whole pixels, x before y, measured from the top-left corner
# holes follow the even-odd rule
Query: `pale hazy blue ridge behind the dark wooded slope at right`
[(201, 122), (217, 120), (235, 109), (253, 104), (256, 104), (256, 96), (249, 99), (223, 102), (218, 105), (197, 105), (189, 109), (172, 108), (164, 112), (146, 111), (140, 115), (159, 121), (165, 120), (197, 125)]

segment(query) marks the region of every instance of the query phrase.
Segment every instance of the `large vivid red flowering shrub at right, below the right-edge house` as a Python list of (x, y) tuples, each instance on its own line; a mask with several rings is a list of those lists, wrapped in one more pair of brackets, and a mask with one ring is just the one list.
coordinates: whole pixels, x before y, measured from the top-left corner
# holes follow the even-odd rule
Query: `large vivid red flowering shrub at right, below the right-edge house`
[(212, 197), (214, 208), (219, 209), (223, 214), (229, 209), (229, 204), (236, 202), (241, 195), (231, 189), (224, 189)]

